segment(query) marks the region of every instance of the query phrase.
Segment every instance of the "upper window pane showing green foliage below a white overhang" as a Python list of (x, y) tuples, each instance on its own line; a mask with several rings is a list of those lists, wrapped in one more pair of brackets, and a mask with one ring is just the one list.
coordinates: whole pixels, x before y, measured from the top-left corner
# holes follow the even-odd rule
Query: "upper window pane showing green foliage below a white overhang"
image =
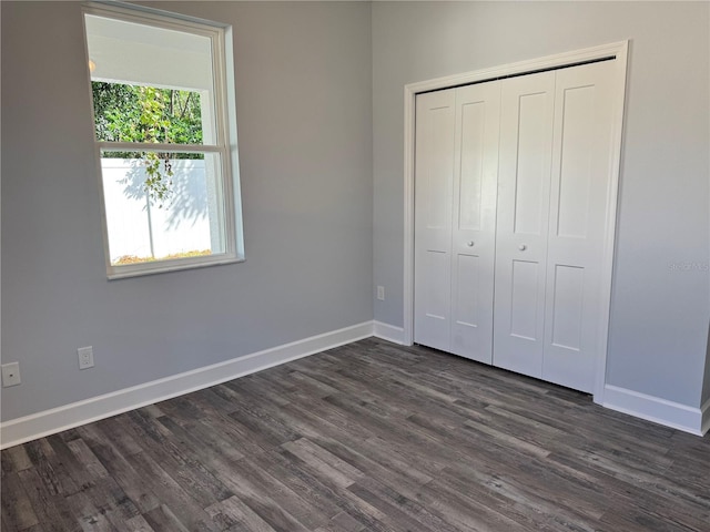
[(211, 38), (93, 14), (85, 22), (98, 140), (215, 143)]

